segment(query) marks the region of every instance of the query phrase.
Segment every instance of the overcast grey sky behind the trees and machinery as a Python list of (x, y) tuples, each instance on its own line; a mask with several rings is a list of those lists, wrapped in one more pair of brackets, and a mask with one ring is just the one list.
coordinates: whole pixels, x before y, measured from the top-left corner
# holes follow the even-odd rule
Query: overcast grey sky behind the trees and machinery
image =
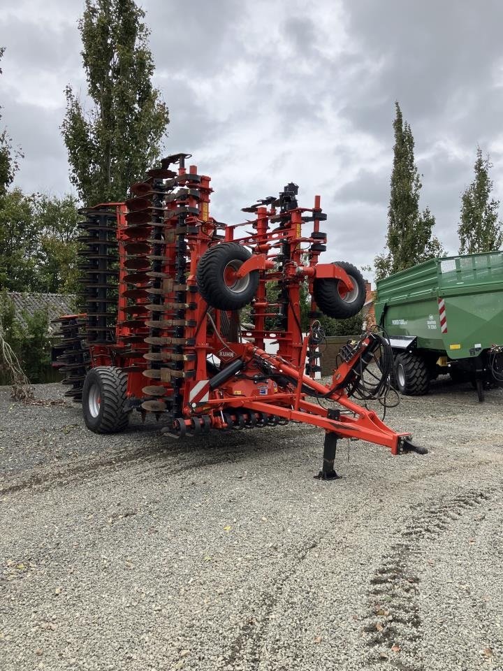
[[(476, 146), (503, 192), (501, 0), (146, 0), (166, 153), (212, 177), (212, 214), (290, 181), (328, 212), (323, 261), (371, 264), (386, 236), (394, 101), (416, 140), (421, 207), (457, 252)], [(25, 154), (16, 184), (71, 190), (59, 132), (64, 87), (85, 94), (82, 0), (2, 0), (0, 104)], [(324, 257), (324, 258), (323, 258)]]

